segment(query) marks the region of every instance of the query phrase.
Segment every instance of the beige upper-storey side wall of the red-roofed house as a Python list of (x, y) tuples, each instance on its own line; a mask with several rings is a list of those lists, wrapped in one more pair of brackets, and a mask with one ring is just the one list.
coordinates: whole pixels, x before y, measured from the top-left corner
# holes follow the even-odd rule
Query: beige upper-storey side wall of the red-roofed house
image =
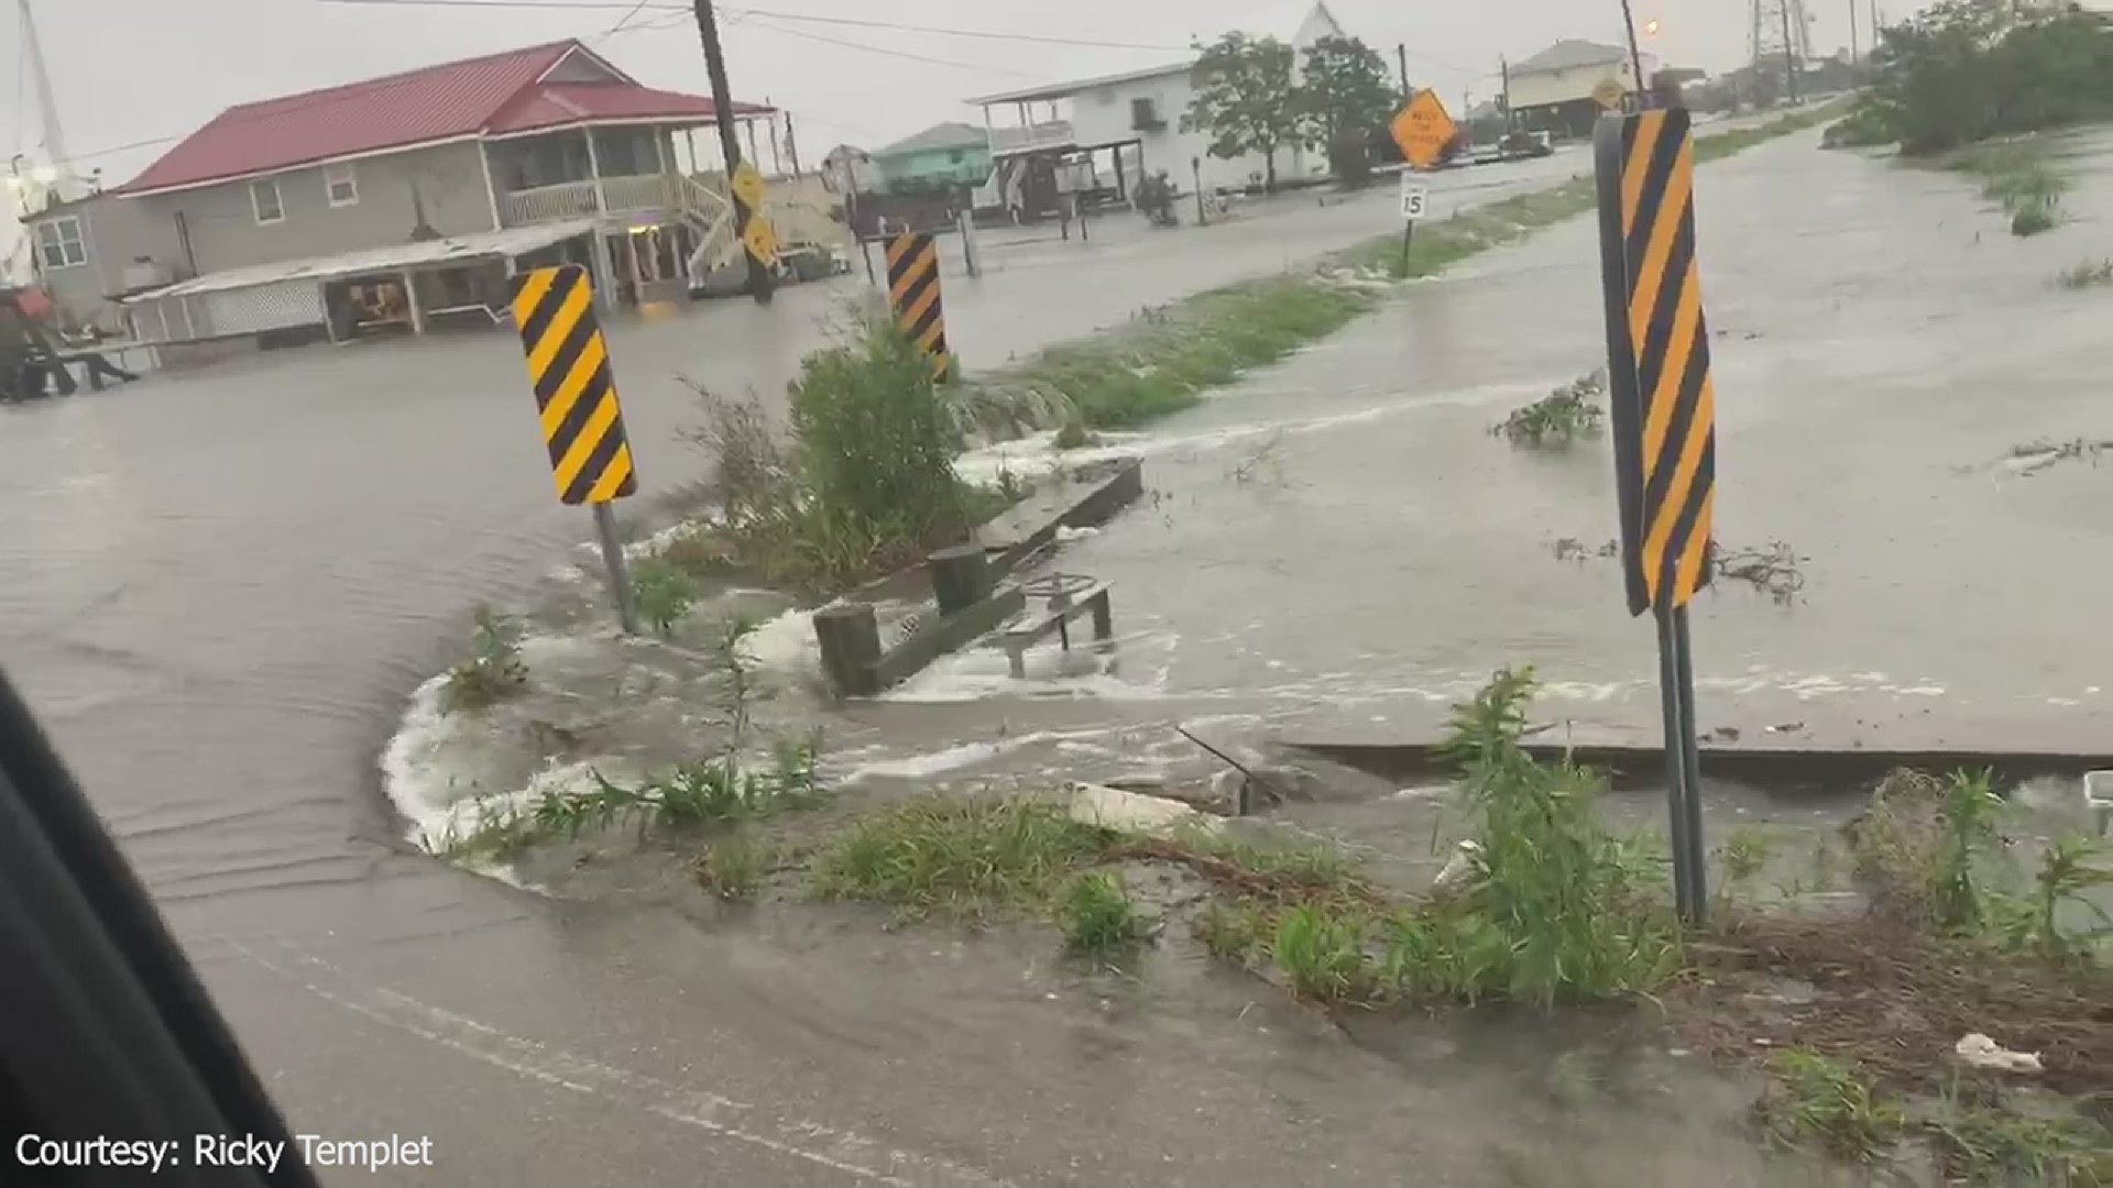
[[(323, 167), (273, 173), (285, 218), (264, 226), (249, 205), (247, 180), (129, 201), (152, 211), (152, 222), (173, 226), (182, 214), (199, 273), (218, 273), (408, 243), (420, 203), (425, 222), (442, 235), (492, 230), (480, 152), (465, 142), (355, 161), (359, 201), (344, 207), (330, 205)], [(420, 203), (412, 201), (414, 190)]]

